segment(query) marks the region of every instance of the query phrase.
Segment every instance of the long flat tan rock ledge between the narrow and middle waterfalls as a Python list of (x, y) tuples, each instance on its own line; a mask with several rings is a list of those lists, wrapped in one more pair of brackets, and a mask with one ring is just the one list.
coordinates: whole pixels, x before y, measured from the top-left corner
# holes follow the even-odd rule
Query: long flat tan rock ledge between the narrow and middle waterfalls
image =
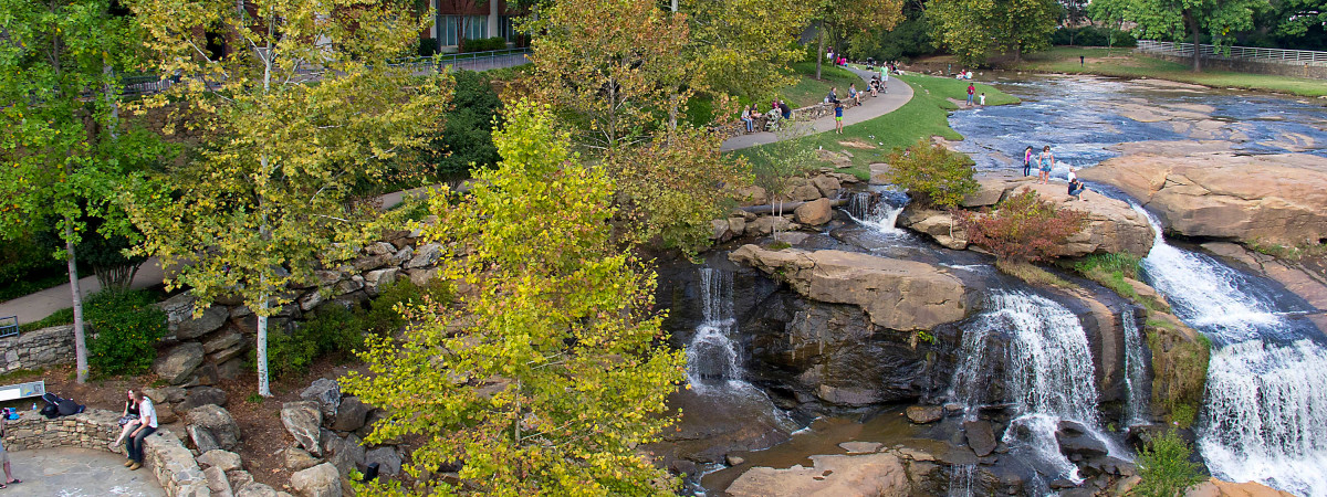
[(930, 330), (971, 309), (962, 281), (941, 266), (843, 250), (767, 250), (743, 245), (729, 258), (779, 280), (805, 298), (852, 304), (890, 330)]

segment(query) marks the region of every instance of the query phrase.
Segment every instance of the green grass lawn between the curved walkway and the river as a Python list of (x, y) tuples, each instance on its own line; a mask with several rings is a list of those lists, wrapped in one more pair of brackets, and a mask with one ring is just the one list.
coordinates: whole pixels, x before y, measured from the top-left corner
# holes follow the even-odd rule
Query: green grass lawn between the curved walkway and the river
[[(811, 148), (823, 148), (835, 152), (852, 155), (852, 172), (859, 178), (868, 179), (871, 163), (882, 162), (884, 158), (897, 147), (916, 143), (921, 138), (945, 137), (945, 139), (962, 139), (963, 137), (949, 127), (949, 113), (957, 110), (949, 98), (967, 98), (967, 81), (951, 78), (938, 78), (932, 76), (902, 76), (902, 80), (913, 87), (913, 98), (902, 107), (874, 119), (844, 126), (843, 134), (820, 133), (800, 138)], [(986, 93), (986, 105), (1018, 103), (1014, 95), (997, 90), (994, 86), (977, 83), (977, 93)], [(748, 160), (759, 160), (755, 151), (760, 147), (734, 151)], [(824, 164), (816, 164), (821, 167)]]

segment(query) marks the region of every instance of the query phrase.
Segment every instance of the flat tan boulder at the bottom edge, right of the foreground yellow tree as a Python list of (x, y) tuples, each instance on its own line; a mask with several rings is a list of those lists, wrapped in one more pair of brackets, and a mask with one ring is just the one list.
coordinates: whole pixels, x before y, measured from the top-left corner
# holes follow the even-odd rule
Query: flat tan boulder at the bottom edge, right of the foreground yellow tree
[(908, 473), (897, 456), (871, 453), (861, 456), (811, 456), (813, 468), (794, 465), (788, 469), (751, 468), (742, 473), (727, 494), (823, 496), (823, 497), (902, 497), (910, 494)]

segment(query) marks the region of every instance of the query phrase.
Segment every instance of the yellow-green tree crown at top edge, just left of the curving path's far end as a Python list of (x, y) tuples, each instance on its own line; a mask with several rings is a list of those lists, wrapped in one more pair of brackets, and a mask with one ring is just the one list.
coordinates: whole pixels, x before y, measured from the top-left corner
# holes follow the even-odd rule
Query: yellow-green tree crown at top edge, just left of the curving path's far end
[(760, 101), (795, 82), (788, 64), (805, 57), (798, 36), (811, 3), (799, 0), (685, 0), (691, 57), (711, 91)]

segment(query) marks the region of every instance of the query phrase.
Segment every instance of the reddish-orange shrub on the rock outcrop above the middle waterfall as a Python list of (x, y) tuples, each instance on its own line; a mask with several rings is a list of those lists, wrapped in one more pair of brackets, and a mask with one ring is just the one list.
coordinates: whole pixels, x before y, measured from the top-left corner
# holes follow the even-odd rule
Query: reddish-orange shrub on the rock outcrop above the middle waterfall
[(957, 211), (967, 241), (1009, 262), (1035, 262), (1055, 256), (1055, 248), (1083, 229), (1083, 212), (1044, 201), (1035, 191), (1005, 199), (994, 212)]

